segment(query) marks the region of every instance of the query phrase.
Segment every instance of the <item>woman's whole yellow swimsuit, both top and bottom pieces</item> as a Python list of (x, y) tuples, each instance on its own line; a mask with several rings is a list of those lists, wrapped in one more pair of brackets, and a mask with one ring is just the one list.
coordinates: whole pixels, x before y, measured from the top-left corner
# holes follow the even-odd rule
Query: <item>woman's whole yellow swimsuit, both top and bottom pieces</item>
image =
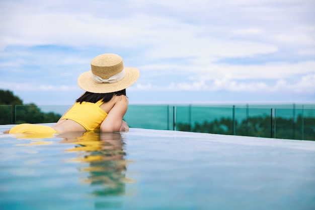
[[(107, 113), (100, 108), (103, 101), (96, 103), (76, 102), (61, 119), (70, 119), (81, 124), (86, 130), (99, 130)], [(23, 123), (14, 126), (9, 133), (57, 133), (55, 129), (46, 125)]]

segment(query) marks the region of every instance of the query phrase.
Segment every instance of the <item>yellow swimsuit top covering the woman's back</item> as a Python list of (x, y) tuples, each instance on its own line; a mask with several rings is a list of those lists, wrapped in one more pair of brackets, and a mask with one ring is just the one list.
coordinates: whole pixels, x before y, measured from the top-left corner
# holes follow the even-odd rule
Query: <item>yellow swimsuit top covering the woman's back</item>
[(61, 119), (70, 119), (81, 124), (86, 130), (99, 130), (107, 113), (100, 108), (102, 100), (91, 102), (76, 102)]

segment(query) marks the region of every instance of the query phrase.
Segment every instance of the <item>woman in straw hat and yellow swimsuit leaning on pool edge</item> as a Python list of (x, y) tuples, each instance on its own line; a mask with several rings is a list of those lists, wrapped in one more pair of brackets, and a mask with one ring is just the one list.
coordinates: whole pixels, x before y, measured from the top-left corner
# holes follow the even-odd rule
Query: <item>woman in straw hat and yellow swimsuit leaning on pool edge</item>
[(24, 123), (4, 133), (128, 131), (127, 123), (122, 120), (128, 108), (126, 88), (135, 83), (139, 76), (137, 68), (124, 67), (119, 55), (98, 55), (91, 61), (91, 71), (83, 73), (77, 79), (78, 86), (86, 92), (55, 125), (49, 127)]

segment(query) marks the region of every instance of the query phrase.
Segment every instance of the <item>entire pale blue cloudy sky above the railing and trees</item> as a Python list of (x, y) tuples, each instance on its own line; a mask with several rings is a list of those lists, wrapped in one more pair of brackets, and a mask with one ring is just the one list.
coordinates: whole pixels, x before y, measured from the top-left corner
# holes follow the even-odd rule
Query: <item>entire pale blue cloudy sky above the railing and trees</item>
[(140, 70), (130, 104), (315, 103), (313, 0), (1, 0), (0, 89), (72, 104), (93, 57)]

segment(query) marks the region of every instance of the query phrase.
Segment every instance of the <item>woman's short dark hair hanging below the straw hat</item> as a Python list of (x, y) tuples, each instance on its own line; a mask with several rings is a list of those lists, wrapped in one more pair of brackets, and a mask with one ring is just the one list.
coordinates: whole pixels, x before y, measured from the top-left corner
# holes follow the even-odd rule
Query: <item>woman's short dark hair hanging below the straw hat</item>
[(76, 102), (91, 102), (96, 103), (100, 100), (103, 100), (103, 102), (109, 102), (114, 96), (126, 96), (126, 89), (113, 92), (113, 93), (91, 93), (91, 92), (85, 92), (80, 98), (76, 99)]

